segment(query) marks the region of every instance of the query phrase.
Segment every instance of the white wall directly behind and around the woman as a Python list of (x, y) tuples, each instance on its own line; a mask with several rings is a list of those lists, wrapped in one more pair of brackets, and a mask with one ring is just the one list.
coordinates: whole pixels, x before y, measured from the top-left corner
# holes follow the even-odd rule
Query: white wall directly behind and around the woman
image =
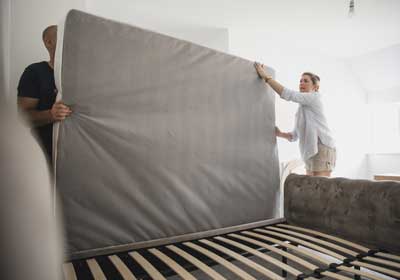
[[(230, 49), (236, 55), (272, 66), (277, 80), (292, 89), (298, 89), (302, 72), (318, 74), (328, 122), (337, 142), (337, 168), (333, 175), (366, 178), (366, 94), (346, 60), (302, 48), (288, 38), (274, 38), (273, 42), (270, 38), (268, 31), (264, 38), (255, 38), (248, 30), (230, 30)], [(279, 44), (274, 43), (278, 41)], [(277, 97), (276, 123), (281, 130), (292, 130), (296, 110), (297, 104)], [(278, 148), (281, 161), (300, 157), (298, 143), (279, 139)]]

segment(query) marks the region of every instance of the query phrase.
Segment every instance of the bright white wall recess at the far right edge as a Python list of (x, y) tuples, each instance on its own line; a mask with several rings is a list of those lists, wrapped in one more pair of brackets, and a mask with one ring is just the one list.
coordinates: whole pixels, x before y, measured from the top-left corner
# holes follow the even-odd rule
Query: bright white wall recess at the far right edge
[(400, 44), (349, 59), (367, 93), (368, 179), (400, 173)]

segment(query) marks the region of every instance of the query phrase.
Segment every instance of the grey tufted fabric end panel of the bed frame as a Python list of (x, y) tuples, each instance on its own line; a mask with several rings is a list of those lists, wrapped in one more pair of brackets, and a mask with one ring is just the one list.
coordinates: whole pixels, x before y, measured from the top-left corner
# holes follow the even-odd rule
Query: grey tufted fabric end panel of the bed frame
[(290, 224), (400, 252), (400, 183), (289, 175), (285, 218)]

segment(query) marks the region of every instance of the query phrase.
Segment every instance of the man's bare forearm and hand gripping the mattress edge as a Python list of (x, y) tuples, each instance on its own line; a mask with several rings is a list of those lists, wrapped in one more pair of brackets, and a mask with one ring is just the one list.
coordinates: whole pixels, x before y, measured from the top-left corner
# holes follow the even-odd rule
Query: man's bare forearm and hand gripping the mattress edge
[(71, 114), (71, 109), (61, 101), (54, 103), (50, 110), (37, 110), (39, 99), (31, 97), (18, 97), (18, 109), (24, 112), (33, 126), (62, 121)]

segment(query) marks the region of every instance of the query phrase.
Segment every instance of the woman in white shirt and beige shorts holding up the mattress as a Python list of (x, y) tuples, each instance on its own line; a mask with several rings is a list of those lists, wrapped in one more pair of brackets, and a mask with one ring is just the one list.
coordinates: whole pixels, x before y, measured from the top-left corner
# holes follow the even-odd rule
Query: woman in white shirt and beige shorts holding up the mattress
[(264, 66), (254, 63), (258, 75), (287, 101), (299, 103), (295, 127), (292, 132), (281, 132), (275, 128), (276, 136), (289, 141), (299, 139), (301, 157), (306, 165), (307, 175), (330, 177), (336, 163), (335, 143), (324, 114), (319, 77), (305, 72), (300, 79), (300, 92), (289, 90), (272, 79)]

